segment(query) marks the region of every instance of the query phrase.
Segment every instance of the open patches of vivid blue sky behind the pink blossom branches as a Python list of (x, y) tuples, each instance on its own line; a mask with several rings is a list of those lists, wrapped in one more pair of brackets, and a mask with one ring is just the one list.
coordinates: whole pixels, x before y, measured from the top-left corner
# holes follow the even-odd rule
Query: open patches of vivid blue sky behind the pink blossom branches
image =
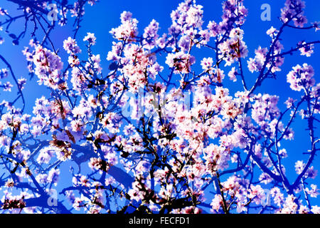
[[(150, 1), (150, 0), (100, 0), (95, 6), (86, 6), (85, 8), (85, 17), (82, 21), (82, 27), (78, 32), (78, 44), (82, 48), (82, 54), (85, 53), (84, 43), (82, 38), (86, 35), (87, 32), (95, 33), (97, 37), (97, 44), (93, 48), (95, 54), (100, 54), (102, 60), (102, 68), (104, 68), (105, 74), (108, 72), (107, 67), (109, 62), (106, 60), (108, 51), (111, 50), (112, 46), (112, 36), (109, 31), (111, 28), (117, 27), (120, 24), (119, 16), (122, 11), (131, 11), (133, 17), (139, 21), (139, 34), (143, 33), (143, 29), (149, 24), (152, 19), (155, 19), (159, 22), (160, 30), (159, 35), (167, 32), (167, 28), (171, 25), (170, 13), (172, 10), (176, 9), (178, 3), (181, 1), (177, 0), (159, 0), (159, 1)], [(217, 0), (198, 0), (197, 4), (203, 6), (204, 18), (203, 27), (206, 27), (208, 21), (214, 20), (216, 22), (220, 21), (220, 16), (222, 15), (222, 1)], [(244, 1), (246, 8), (249, 10), (249, 15), (247, 16), (247, 21), (242, 27), (245, 31), (244, 41), (247, 44), (249, 49), (249, 54), (243, 63), (249, 58), (255, 56), (254, 51), (258, 46), (267, 47), (270, 45), (270, 37), (267, 36), (266, 31), (271, 26), (279, 28), (281, 26), (278, 16), (280, 15), (280, 9), (284, 6), (283, 1), (267, 1), (267, 0), (245, 0)], [(262, 10), (260, 6), (262, 4), (270, 4), (271, 6), (271, 21), (262, 21), (260, 19), (260, 14)], [(7, 9), (9, 13), (12, 12), (12, 15), (16, 13), (16, 9), (12, 7), (12, 4), (8, 4), (7, 1), (1, 0), (0, 7)], [(305, 15), (309, 22), (320, 21), (320, 1), (316, 0), (306, 0), (306, 9)], [(71, 23), (70, 23), (71, 22)], [(51, 34), (51, 39), (55, 43), (55, 47), (60, 48), (60, 56), (65, 61), (68, 56), (67, 53), (63, 50), (63, 40), (68, 38), (68, 36), (73, 36), (72, 30), (73, 19), (70, 19), (68, 26), (57, 27), (55, 31)], [(32, 26), (31, 26), (32, 27)], [(21, 23), (17, 21), (16, 24), (13, 24), (11, 27), (11, 32), (20, 31)], [(28, 31), (26, 37), (29, 36), (31, 30)], [(40, 33), (39, 33), (40, 34)], [(28, 46), (28, 38), (24, 38), (21, 41), (20, 45), (13, 46), (11, 45), (11, 38), (7, 36), (4, 31), (0, 31), (0, 36), (4, 36), (6, 42), (0, 46), (0, 54), (5, 56), (7, 61), (11, 63), (11, 66), (14, 68), (14, 73), (19, 78), (24, 76), (28, 78), (28, 70), (26, 68), (26, 60), (21, 53), (23, 46)], [(315, 33), (314, 29), (312, 30), (295, 30), (293, 28), (287, 28), (284, 31), (282, 36), (282, 44), (284, 45), (284, 51), (289, 50), (290, 48), (296, 46), (298, 41), (318, 41), (320, 40), (320, 31)], [(284, 60), (284, 65), (282, 66), (282, 71), (277, 73), (277, 81), (268, 79), (264, 82), (264, 85), (261, 88), (258, 88), (255, 93), (270, 93), (271, 95), (279, 95), (279, 108), (284, 110), (284, 101), (287, 100), (288, 96), (292, 98), (299, 98), (302, 94), (297, 91), (292, 91), (289, 88), (289, 83), (287, 83), (287, 73), (291, 71), (292, 66), (297, 64), (302, 65), (303, 63), (311, 64), (315, 70), (316, 81), (320, 82), (319, 72), (320, 72), (320, 46), (315, 46), (314, 54), (311, 58), (306, 58), (305, 56), (299, 56), (297, 52), (294, 56), (286, 56)], [(213, 57), (213, 53), (210, 51), (193, 51), (193, 55), (198, 57), (198, 65), (203, 57)], [(201, 58), (199, 58), (201, 57)], [(244, 64), (246, 66), (246, 64)], [(0, 68), (4, 68), (4, 64), (0, 63)], [(228, 71), (225, 71), (228, 73)], [(257, 73), (250, 73), (245, 71), (245, 79), (247, 84), (251, 87), (257, 77)], [(42, 95), (48, 95), (48, 90), (45, 86), (36, 86), (36, 77), (32, 81), (28, 81), (24, 94), (26, 97), (26, 112), (31, 112), (34, 100), (40, 98)], [(225, 86), (230, 88), (231, 91), (235, 92), (240, 89), (240, 81), (238, 83), (232, 83), (228, 80), (228, 76), (225, 78)], [(11, 98), (12, 94), (8, 92), (0, 91), (0, 101), (4, 99)], [(286, 120), (286, 119), (284, 119)], [(289, 141), (282, 144), (283, 147), (287, 149), (289, 157), (284, 159), (284, 166), (287, 168), (287, 173), (289, 174), (289, 180), (294, 181), (297, 175), (294, 172), (294, 162), (297, 160), (304, 160), (306, 162), (307, 156), (302, 155), (302, 152), (306, 152), (310, 148), (310, 142), (308, 138), (308, 133), (305, 130), (305, 120), (296, 121), (293, 125), (295, 130), (294, 141)], [(318, 134), (319, 135), (319, 134)], [(314, 160), (314, 167), (319, 168), (319, 156), (316, 156)], [(65, 167), (66, 168), (66, 167)], [(67, 177), (65, 177), (67, 179)], [(316, 177), (315, 180), (309, 181), (310, 183), (315, 183), (320, 185), (319, 177)], [(311, 199), (311, 202), (320, 202), (320, 199)]]

